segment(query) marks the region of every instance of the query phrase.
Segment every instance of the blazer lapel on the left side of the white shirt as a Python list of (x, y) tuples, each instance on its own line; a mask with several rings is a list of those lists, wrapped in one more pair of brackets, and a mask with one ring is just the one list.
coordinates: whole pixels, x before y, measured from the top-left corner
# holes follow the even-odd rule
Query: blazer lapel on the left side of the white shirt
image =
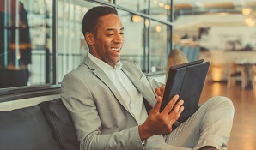
[(125, 100), (122, 98), (118, 89), (113, 85), (113, 82), (110, 81), (105, 72), (100, 69), (88, 56), (85, 58), (83, 63), (85, 63), (90, 69), (94, 70), (94, 75), (96, 75), (98, 78), (101, 79), (103, 83), (105, 83), (105, 85), (113, 92), (116, 99), (119, 100), (119, 103), (123, 105), (127, 111), (129, 111), (127, 105), (125, 105)]

